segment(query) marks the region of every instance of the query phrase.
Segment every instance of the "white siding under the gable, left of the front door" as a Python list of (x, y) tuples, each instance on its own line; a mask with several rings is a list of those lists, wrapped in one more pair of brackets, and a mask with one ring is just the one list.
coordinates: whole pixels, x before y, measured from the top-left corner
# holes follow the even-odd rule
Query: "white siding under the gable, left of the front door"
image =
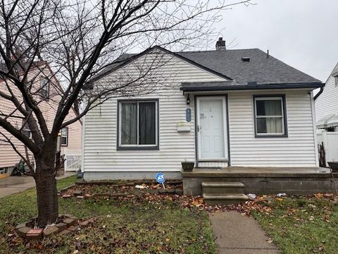
[[(117, 150), (117, 99), (109, 99), (94, 108), (84, 121), (84, 171), (180, 171), (181, 162), (195, 160), (194, 97), (187, 98), (180, 91), (181, 82), (224, 80), (192, 64), (168, 56), (161, 75), (168, 88), (156, 90), (144, 99), (158, 99), (159, 150)], [(132, 65), (125, 66), (130, 72)], [(175, 75), (171, 75), (175, 73)], [(101, 82), (109, 82), (115, 73)], [(140, 97), (134, 98), (139, 99)], [(191, 131), (178, 133), (177, 123), (185, 122), (187, 108), (192, 109)]]

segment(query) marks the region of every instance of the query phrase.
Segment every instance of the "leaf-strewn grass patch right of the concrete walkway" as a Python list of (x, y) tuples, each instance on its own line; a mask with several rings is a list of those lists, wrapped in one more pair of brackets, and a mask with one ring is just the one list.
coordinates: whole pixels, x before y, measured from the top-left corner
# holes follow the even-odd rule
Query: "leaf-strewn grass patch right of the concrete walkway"
[(283, 253), (338, 253), (338, 205), (332, 195), (273, 198), (253, 211)]

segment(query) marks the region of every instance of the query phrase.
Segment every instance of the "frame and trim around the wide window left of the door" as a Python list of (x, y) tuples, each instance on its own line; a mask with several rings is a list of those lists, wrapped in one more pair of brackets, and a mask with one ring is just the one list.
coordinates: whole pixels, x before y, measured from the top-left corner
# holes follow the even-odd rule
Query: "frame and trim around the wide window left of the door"
[[(121, 105), (123, 102), (134, 102), (137, 104), (137, 144), (135, 145), (123, 145), (122, 142), (122, 131), (121, 131)], [(155, 144), (154, 145), (138, 145), (139, 144), (139, 102), (155, 102)], [(118, 146), (119, 147), (158, 147), (158, 99), (123, 99), (118, 101)]]

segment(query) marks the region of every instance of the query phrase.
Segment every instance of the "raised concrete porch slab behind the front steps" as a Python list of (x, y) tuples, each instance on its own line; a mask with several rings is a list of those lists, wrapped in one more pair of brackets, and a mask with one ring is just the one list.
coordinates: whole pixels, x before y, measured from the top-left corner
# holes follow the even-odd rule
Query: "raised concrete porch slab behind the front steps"
[(181, 171), (184, 195), (202, 195), (205, 181), (240, 182), (244, 193), (305, 195), (334, 191), (338, 173), (320, 167), (227, 167)]

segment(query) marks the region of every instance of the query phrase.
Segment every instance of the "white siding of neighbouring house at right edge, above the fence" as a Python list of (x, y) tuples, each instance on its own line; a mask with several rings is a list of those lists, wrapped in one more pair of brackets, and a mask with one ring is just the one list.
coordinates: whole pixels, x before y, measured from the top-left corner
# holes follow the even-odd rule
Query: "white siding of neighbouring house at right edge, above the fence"
[[(332, 71), (338, 71), (338, 64)], [(338, 86), (332, 75), (327, 79), (323, 93), (315, 99), (315, 120), (323, 119), (324, 116), (338, 113)]]

